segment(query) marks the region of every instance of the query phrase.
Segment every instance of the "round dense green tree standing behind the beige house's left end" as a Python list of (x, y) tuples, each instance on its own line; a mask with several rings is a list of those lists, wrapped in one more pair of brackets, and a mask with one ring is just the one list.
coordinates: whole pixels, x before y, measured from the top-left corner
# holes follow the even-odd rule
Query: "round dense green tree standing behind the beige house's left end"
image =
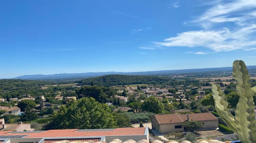
[(146, 98), (143, 102), (142, 109), (153, 113), (162, 113), (164, 111), (162, 102), (154, 96)]

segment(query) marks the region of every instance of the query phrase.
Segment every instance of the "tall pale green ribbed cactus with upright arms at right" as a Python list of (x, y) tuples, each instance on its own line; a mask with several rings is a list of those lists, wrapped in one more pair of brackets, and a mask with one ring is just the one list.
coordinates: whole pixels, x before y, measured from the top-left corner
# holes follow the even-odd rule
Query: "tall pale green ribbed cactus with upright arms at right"
[(216, 84), (212, 87), (215, 109), (228, 127), (238, 133), (239, 139), (243, 143), (256, 143), (256, 121), (253, 102), (256, 87), (251, 88), (250, 75), (243, 61), (236, 60), (233, 62), (233, 78), (237, 80), (236, 89), (240, 97), (235, 111), (236, 118), (228, 111), (228, 102), (225, 100), (225, 94), (220, 89), (220, 86)]

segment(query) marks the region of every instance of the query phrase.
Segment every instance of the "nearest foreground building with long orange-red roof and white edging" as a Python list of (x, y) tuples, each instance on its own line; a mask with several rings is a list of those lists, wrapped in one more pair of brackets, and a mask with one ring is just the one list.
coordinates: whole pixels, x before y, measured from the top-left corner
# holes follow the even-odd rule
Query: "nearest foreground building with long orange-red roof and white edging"
[(149, 143), (147, 127), (116, 129), (60, 129), (47, 131), (0, 131), (3, 143), (143, 142)]

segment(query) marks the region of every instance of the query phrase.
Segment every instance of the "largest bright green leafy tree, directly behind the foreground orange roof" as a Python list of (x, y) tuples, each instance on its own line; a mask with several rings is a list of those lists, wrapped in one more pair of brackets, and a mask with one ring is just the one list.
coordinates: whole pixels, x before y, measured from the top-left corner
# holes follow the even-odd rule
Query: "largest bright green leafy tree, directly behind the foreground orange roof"
[[(93, 86), (92, 86), (93, 87)], [(80, 98), (67, 102), (54, 112), (45, 129), (107, 129), (117, 126), (114, 116), (106, 104), (94, 98)]]

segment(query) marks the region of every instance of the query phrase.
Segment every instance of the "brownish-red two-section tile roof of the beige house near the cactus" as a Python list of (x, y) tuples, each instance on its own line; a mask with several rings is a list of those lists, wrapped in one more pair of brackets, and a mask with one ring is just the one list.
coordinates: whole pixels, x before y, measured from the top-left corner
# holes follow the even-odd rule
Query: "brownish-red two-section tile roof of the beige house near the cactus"
[[(154, 115), (159, 124), (170, 124), (170, 123), (182, 123), (187, 120), (186, 114), (164, 114), (164, 115)], [(189, 120), (195, 121), (206, 121), (206, 120), (218, 120), (212, 113), (194, 113), (189, 114)]]

